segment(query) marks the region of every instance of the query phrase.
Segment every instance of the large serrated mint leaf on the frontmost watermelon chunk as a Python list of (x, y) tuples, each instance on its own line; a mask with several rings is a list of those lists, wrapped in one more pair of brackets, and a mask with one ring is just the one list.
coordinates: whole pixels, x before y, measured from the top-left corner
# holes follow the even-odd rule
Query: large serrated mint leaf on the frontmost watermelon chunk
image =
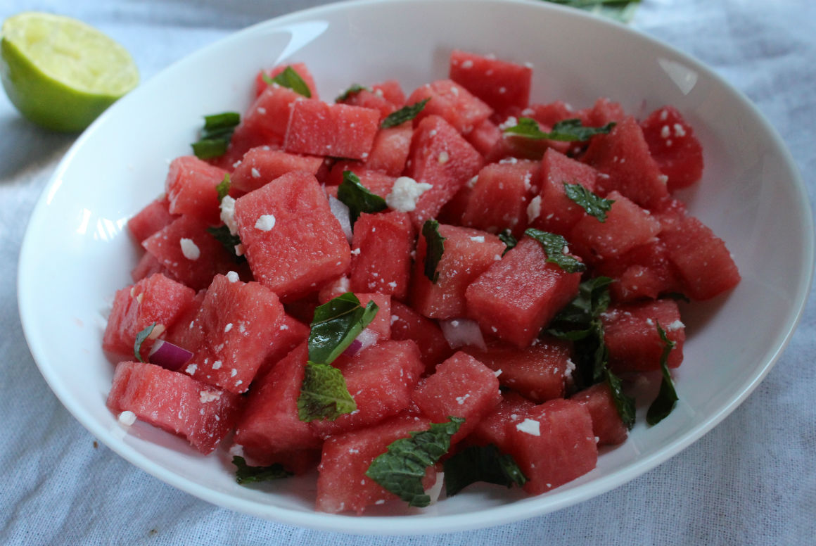
[(464, 423), (461, 417), (449, 417), (447, 423), (432, 423), (428, 430), (410, 433), (388, 446), (388, 451), (371, 461), (366, 476), (391, 491), (408, 506), (428, 506), (422, 480), (425, 470), (450, 450), (450, 437)]

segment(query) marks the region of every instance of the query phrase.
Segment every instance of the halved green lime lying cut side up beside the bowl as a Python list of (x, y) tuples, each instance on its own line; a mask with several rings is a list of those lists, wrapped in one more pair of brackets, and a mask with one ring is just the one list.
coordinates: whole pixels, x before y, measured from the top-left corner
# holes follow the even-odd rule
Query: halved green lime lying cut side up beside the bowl
[(2, 25), (0, 77), (11, 102), (31, 121), (82, 131), (139, 83), (124, 47), (82, 21), (25, 12)]

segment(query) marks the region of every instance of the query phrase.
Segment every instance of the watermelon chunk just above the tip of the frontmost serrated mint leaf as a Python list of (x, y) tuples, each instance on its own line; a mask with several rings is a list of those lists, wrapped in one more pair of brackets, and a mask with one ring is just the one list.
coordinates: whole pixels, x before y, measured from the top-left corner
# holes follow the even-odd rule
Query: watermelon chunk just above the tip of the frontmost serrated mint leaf
[(465, 422), (450, 439), (454, 445), (476, 428), (479, 420), (501, 402), (499, 380), (489, 367), (459, 351), (437, 366), (414, 391), (414, 402), (434, 423), (448, 417), (463, 417)]

